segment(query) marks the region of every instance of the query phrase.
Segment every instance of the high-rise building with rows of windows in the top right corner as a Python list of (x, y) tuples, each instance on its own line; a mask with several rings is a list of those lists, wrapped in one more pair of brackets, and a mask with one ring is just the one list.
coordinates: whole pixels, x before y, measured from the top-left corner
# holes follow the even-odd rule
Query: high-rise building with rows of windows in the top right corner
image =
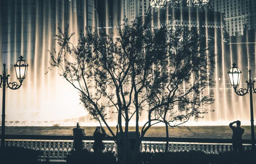
[(256, 26), (256, 0), (210, 0), (214, 11), (224, 13), (225, 29), (230, 36), (243, 35)]

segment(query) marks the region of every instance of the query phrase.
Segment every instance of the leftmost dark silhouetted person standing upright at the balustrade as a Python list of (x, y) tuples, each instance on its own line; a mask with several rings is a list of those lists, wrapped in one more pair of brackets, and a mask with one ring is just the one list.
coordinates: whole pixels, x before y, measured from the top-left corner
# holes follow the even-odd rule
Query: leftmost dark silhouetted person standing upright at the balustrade
[(76, 128), (73, 129), (74, 142), (73, 147), (75, 150), (82, 150), (84, 148), (83, 145), (83, 136), (85, 136), (84, 129), (81, 129), (79, 123), (76, 124)]

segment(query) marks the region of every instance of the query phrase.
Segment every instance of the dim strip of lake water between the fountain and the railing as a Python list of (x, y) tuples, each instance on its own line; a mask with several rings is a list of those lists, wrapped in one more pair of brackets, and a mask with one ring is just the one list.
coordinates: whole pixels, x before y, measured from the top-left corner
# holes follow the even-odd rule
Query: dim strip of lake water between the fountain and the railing
[[(241, 126), (244, 128), (243, 139), (251, 139), (251, 129), (250, 126)], [(73, 135), (73, 128), (75, 127), (16, 127), (16, 126), (6, 126), (6, 134), (8, 135)], [(93, 135), (95, 127), (81, 127), (85, 129), (87, 136)], [(1, 129), (1, 127), (0, 127)], [(106, 129), (106, 127), (105, 127)], [(116, 130), (115, 127), (111, 127), (112, 130)], [(232, 130), (229, 126), (192, 126), (190, 127), (192, 132), (190, 132), (185, 127), (175, 127), (169, 128), (169, 137), (174, 138), (231, 138)], [(134, 131), (135, 127), (130, 127), (129, 131)], [(106, 129), (107, 134), (110, 135), (108, 129)], [(115, 132), (115, 131), (114, 131)], [(256, 132), (256, 129), (255, 129)], [(165, 127), (151, 127), (146, 135), (146, 137), (166, 137)]]

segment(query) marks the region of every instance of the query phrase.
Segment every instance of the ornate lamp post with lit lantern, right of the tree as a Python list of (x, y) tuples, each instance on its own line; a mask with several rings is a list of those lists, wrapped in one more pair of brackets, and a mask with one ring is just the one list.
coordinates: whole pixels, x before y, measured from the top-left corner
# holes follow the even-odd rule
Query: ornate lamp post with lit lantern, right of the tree
[(235, 92), (239, 96), (244, 96), (248, 92), (250, 93), (250, 121), (251, 121), (251, 138), (252, 138), (252, 151), (255, 152), (255, 138), (254, 138), (254, 123), (253, 123), (253, 93), (256, 93), (254, 88), (255, 81), (252, 81), (251, 78), (251, 70), (249, 70), (249, 81), (246, 81), (247, 89), (246, 88), (239, 88), (240, 78), (241, 78), (241, 71), (238, 67), (236, 67), (236, 63), (233, 63), (233, 67), (230, 68), (229, 72), (227, 72), (230, 78), (230, 83), (233, 86)]

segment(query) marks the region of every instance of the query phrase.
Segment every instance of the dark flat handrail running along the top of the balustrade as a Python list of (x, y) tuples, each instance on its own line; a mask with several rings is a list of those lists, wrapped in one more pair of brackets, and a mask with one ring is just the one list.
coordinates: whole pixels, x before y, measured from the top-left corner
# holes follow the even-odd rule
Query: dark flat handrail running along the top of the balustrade
[[(0, 135), (1, 137), (1, 135)], [(31, 139), (31, 140), (73, 140), (73, 135), (5, 135), (6, 139)], [(84, 136), (83, 140), (94, 140), (93, 136)], [(113, 141), (113, 137), (106, 136), (106, 141)], [(144, 137), (143, 141), (166, 142), (166, 137)], [(169, 138), (169, 142), (187, 143), (220, 143), (231, 144), (231, 139), (223, 138)], [(251, 144), (250, 139), (243, 139), (243, 144)]]

